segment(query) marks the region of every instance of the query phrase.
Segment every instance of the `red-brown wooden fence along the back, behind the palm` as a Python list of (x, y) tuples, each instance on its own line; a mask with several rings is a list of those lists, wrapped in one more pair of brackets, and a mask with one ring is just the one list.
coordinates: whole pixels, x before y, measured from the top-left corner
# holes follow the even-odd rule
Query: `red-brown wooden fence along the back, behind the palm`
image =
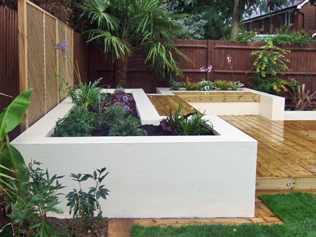
[[(227, 61), (228, 54), (232, 57), (231, 65), (233, 67), (234, 79), (239, 80), (248, 86), (252, 73), (246, 74), (251, 68), (255, 60), (255, 56), (251, 55), (254, 50), (260, 49), (265, 45), (264, 42), (233, 42), (224, 40), (174, 40), (175, 45), (184, 52), (192, 62), (188, 62), (183, 58), (179, 59), (180, 67), (184, 72), (184, 77), (179, 81), (190, 79), (192, 82), (206, 78), (206, 74), (200, 72), (200, 67), (205, 68), (212, 65), (212, 72), (209, 74), (210, 80), (216, 79), (233, 80), (232, 69)], [(288, 54), (290, 63), (288, 68), (291, 72), (284, 73), (281, 78), (295, 78), (301, 83), (305, 83), (307, 76), (310, 75), (308, 88), (316, 90), (316, 44), (312, 43), (305, 46), (288, 45), (281, 46), (290, 49)], [(157, 86), (167, 86), (167, 82), (157, 81), (149, 69), (142, 67), (142, 64), (133, 64), (133, 62), (144, 57), (141, 53), (136, 53), (129, 58), (127, 73), (127, 87), (143, 88), (147, 93), (156, 92)], [(105, 57), (99, 49), (93, 44), (89, 44), (89, 72), (88, 78), (91, 81), (103, 77), (103, 84), (112, 83), (112, 65), (109, 61), (105, 61)]]

